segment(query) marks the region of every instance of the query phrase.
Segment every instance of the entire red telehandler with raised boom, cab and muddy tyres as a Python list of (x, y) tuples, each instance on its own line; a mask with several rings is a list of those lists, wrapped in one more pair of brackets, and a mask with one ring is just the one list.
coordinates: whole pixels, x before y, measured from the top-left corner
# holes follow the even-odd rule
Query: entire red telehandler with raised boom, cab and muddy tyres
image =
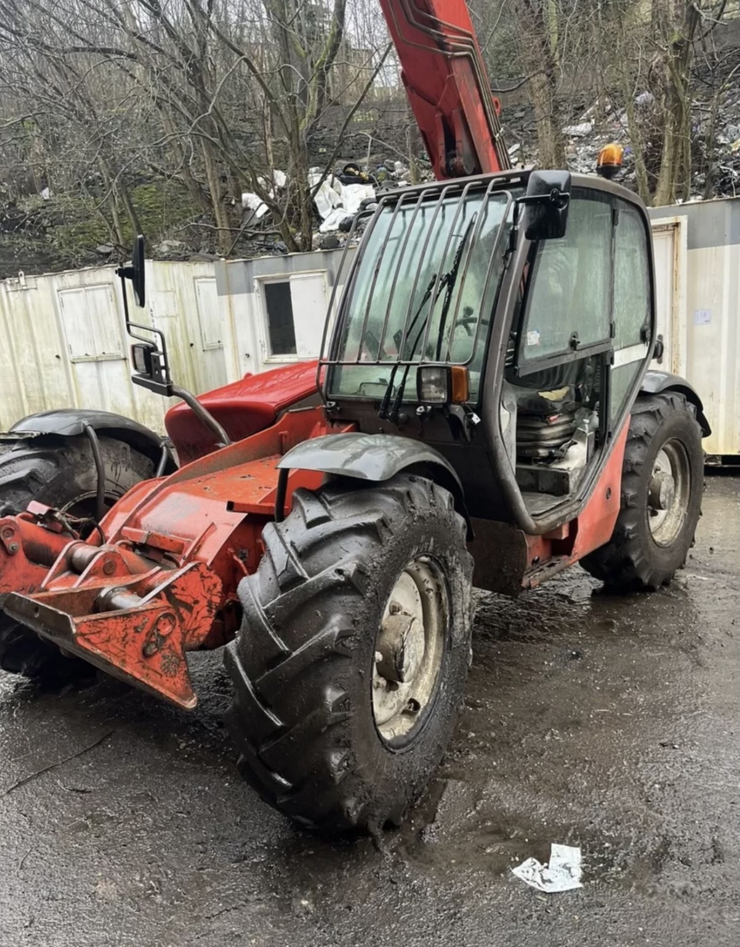
[[(576, 562), (614, 589), (672, 580), (709, 433), (694, 389), (649, 369), (641, 201), (510, 169), (462, 0), (381, 6), (438, 181), (361, 221), (318, 365), (196, 400), (127, 310), (135, 383), (183, 399), (179, 466), (80, 410), (18, 422), (0, 456), (0, 664), (89, 663), (188, 708), (187, 652), (226, 645), (244, 777), (338, 830), (424, 792), (474, 584), (516, 595)], [(140, 239), (119, 275), (143, 305)]]

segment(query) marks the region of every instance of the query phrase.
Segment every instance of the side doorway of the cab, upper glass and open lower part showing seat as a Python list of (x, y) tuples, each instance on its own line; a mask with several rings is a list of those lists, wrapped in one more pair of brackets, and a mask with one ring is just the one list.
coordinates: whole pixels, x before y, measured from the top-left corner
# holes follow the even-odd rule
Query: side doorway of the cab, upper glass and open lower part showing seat
[(647, 364), (651, 282), (645, 215), (615, 188), (573, 188), (564, 237), (530, 245), (501, 402), (532, 513), (576, 491), (616, 430)]

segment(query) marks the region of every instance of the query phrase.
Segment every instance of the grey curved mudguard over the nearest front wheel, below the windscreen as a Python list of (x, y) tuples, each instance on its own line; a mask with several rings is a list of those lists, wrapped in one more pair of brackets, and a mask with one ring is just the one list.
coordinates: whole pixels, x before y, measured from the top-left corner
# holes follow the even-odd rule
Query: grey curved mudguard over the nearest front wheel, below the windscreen
[(278, 468), (349, 476), (372, 483), (382, 483), (404, 471), (428, 476), (452, 493), (455, 509), (465, 518), (472, 537), (460, 477), (439, 451), (421, 440), (393, 434), (328, 434), (302, 441), (282, 456)]

